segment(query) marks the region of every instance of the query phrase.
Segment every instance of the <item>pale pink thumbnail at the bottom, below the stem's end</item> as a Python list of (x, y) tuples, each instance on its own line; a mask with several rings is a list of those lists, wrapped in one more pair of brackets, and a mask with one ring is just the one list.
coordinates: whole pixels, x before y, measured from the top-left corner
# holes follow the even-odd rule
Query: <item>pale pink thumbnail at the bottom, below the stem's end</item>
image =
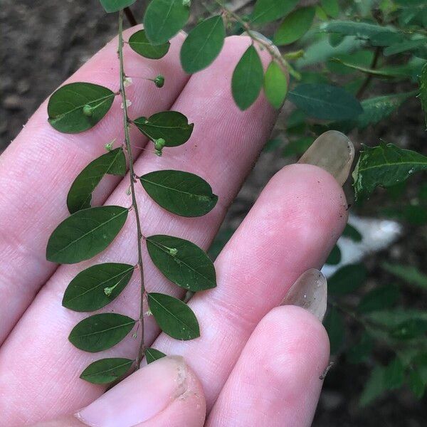
[(163, 411), (188, 389), (182, 357), (163, 357), (139, 369), (75, 416), (93, 427), (131, 427)]

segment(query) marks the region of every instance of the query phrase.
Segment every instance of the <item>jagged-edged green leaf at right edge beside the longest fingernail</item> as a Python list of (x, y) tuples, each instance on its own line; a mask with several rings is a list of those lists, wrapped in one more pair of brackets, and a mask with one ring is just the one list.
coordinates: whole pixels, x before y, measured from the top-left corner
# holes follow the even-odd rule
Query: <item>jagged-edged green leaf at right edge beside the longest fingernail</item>
[(369, 196), (376, 186), (389, 187), (427, 169), (427, 157), (394, 144), (365, 146), (353, 172), (356, 197)]

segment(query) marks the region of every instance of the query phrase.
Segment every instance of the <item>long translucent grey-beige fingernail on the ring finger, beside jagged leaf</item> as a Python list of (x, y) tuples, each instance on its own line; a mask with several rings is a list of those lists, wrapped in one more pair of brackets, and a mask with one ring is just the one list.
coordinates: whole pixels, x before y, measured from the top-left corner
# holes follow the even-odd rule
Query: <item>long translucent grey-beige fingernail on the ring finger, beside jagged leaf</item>
[(349, 138), (337, 130), (328, 130), (310, 145), (298, 163), (321, 167), (343, 185), (349, 176), (353, 159), (354, 146)]

